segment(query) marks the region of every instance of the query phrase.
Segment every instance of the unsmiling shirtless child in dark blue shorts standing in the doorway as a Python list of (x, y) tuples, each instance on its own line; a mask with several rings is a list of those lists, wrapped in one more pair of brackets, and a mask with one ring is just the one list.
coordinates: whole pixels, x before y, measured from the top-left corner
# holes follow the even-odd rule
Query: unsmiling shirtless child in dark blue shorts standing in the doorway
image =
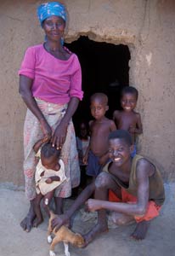
[(94, 120), (89, 122), (90, 143), (84, 156), (88, 162), (87, 175), (97, 177), (108, 160), (108, 136), (116, 130), (113, 120), (105, 117), (108, 107), (108, 97), (104, 93), (95, 93), (90, 98), (91, 114)]

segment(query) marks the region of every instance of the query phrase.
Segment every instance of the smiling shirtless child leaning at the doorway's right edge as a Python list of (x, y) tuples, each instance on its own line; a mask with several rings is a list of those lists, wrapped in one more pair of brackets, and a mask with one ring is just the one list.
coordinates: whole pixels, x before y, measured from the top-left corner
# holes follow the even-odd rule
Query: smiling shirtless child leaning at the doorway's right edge
[(117, 129), (130, 132), (133, 139), (133, 153), (136, 154), (136, 137), (143, 132), (140, 114), (134, 111), (138, 101), (138, 90), (132, 86), (126, 86), (121, 90), (121, 108), (113, 113), (113, 119)]

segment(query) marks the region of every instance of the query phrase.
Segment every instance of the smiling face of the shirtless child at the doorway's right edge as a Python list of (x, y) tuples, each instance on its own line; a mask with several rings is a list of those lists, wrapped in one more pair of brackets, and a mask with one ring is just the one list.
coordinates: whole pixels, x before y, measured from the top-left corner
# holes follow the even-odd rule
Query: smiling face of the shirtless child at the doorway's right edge
[(121, 96), (121, 108), (123, 108), (123, 110), (130, 112), (136, 107), (136, 104), (137, 98), (135, 94), (125, 93)]

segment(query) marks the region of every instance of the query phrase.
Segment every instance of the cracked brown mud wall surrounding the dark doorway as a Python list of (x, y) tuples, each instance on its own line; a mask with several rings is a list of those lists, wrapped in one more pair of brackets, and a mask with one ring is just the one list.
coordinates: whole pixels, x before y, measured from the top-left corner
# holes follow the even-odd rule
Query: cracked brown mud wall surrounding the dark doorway
[[(23, 184), (25, 104), (18, 94), (17, 75), (25, 49), (42, 43), (36, 0), (0, 3), (0, 175), (1, 182)], [(155, 160), (165, 178), (175, 172), (175, 3), (173, 0), (67, 0), (69, 20), (65, 42), (80, 35), (131, 52), (130, 84), (138, 88), (138, 111), (144, 134), (141, 154)]]

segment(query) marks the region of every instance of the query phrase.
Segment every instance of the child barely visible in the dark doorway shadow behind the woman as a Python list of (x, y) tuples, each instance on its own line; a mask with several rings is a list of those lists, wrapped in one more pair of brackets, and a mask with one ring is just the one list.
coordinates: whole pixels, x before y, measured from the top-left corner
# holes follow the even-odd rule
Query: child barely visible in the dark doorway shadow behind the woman
[(82, 189), (86, 187), (86, 183), (87, 183), (87, 177), (86, 177), (87, 164), (83, 162), (83, 158), (85, 153), (87, 152), (89, 141), (90, 141), (90, 137), (88, 136), (88, 125), (85, 121), (82, 121), (80, 123), (78, 136), (76, 137), (76, 146), (77, 146), (79, 164), (80, 164), (80, 170), (81, 170), (80, 187)]

